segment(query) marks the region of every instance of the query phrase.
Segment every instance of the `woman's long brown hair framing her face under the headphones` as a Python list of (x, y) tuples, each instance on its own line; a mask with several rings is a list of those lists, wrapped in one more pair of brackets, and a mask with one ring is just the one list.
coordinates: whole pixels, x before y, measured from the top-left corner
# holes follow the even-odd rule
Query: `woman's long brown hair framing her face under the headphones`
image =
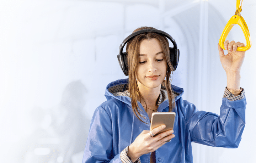
[[(155, 29), (155, 28), (140, 27), (135, 29), (133, 33), (142, 29)], [(156, 38), (159, 40), (162, 51), (164, 53), (164, 56), (167, 62), (166, 80), (162, 82), (162, 86), (164, 86), (167, 91), (167, 95), (169, 99), (169, 112), (173, 111), (173, 108), (174, 108), (174, 94), (172, 93), (172, 88), (170, 83), (171, 74), (172, 74), (172, 71), (174, 71), (174, 68), (172, 67), (172, 64), (171, 64), (169, 42), (165, 36), (162, 36), (154, 32), (139, 34), (135, 36), (132, 40), (130, 40), (126, 45), (126, 52), (128, 54), (129, 92), (131, 96), (132, 109), (137, 118), (139, 118), (138, 115), (142, 117), (142, 115), (138, 112), (138, 109), (137, 109), (139, 108), (137, 101), (138, 99), (142, 99), (143, 101), (145, 101), (142, 95), (140, 94), (139, 87), (136, 80), (136, 72), (137, 72), (137, 67), (139, 63), (139, 45), (142, 40), (152, 39), (152, 38)], [(139, 95), (139, 98), (137, 95)], [(140, 119), (140, 121), (142, 120)]]

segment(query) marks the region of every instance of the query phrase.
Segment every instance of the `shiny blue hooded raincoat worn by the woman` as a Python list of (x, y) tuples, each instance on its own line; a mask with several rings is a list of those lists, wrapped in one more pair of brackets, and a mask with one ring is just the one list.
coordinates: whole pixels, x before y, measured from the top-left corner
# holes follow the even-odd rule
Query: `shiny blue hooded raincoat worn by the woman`
[[(107, 85), (103, 102), (94, 112), (86, 142), (82, 163), (121, 163), (120, 153), (143, 131), (149, 130), (150, 121), (142, 105), (141, 122), (133, 113), (130, 97), (114, 96), (108, 88), (127, 84), (128, 79), (113, 81)], [(220, 116), (198, 111), (192, 103), (183, 100), (183, 89), (172, 85), (175, 97), (175, 137), (156, 150), (156, 161), (162, 163), (192, 163), (191, 142), (208, 146), (237, 148), (245, 127), (246, 99), (229, 101), (223, 98)], [(168, 112), (169, 101), (158, 107), (158, 112)], [(140, 157), (142, 163), (150, 163), (150, 154)]]

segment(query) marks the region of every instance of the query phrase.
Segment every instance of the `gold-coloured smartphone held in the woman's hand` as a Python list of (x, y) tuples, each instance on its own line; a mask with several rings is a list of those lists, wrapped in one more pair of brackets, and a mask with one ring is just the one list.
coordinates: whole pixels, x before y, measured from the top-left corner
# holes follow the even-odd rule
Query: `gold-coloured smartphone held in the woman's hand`
[[(174, 128), (174, 120), (175, 120), (176, 114), (174, 112), (154, 112), (151, 116), (151, 124), (150, 124), (150, 130), (153, 130), (156, 127), (159, 127), (160, 125), (165, 124), (165, 129), (161, 130), (159, 133), (163, 133), (167, 130), (173, 130)], [(170, 142), (166, 141), (166, 142)]]

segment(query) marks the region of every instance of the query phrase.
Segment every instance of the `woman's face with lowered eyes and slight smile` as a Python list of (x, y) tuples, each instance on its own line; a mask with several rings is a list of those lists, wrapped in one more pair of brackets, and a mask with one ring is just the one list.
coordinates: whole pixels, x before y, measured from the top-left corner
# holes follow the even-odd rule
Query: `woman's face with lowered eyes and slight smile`
[(161, 88), (166, 71), (167, 63), (158, 39), (141, 41), (136, 72), (139, 89)]

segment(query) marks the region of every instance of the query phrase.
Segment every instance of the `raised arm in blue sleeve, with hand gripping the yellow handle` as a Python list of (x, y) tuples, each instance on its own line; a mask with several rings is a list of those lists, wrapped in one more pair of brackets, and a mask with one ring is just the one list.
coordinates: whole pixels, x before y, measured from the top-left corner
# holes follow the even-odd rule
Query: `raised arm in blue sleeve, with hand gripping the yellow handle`
[[(192, 141), (216, 147), (238, 147), (245, 127), (246, 99), (244, 90), (240, 88), (240, 70), (245, 52), (236, 51), (237, 47), (245, 46), (235, 41), (225, 41), (223, 49), (219, 46), (219, 56), (227, 76), (227, 89), (220, 107), (220, 115), (191, 109), (188, 124), (192, 133)], [(233, 94), (233, 95), (232, 95)], [(241, 95), (240, 95), (241, 94)], [(235, 97), (234, 97), (235, 96)], [(188, 105), (190, 106), (190, 105)]]

